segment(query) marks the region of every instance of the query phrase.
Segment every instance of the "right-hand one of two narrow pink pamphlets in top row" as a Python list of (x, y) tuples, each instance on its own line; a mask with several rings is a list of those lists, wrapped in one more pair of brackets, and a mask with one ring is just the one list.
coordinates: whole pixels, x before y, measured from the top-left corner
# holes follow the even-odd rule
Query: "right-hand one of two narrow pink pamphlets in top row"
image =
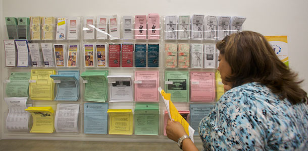
[(147, 16), (147, 39), (160, 39), (160, 16), (158, 14), (148, 14)]

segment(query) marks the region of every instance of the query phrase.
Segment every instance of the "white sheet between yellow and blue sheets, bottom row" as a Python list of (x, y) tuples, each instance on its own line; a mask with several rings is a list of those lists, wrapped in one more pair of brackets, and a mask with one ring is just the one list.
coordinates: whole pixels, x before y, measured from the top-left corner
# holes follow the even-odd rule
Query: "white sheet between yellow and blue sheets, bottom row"
[(55, 118), (57, 132), (78, 132), (79, 104), (58, 104)]

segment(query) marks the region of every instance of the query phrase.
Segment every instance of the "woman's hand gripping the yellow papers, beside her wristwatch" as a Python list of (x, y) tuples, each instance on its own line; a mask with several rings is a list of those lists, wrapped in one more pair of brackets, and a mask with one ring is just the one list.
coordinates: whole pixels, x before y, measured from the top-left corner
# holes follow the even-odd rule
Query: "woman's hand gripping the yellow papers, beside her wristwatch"
[(187, 135), (184, 130), (184, 127), (181, 125), (180, 122), (171, 121), (170, 119), (168, 119), (167, 121), (166, 133), (167, 133), (168, 138), (176, 142), (183, 135)]

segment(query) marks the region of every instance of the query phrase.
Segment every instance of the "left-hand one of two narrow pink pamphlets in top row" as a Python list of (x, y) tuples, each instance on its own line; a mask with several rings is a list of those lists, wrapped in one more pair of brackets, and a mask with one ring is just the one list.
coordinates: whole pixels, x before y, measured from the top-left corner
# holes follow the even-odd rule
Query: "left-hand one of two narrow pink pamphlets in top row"
[(135, 39), (146, 39), (146, 15), (135, 16)]

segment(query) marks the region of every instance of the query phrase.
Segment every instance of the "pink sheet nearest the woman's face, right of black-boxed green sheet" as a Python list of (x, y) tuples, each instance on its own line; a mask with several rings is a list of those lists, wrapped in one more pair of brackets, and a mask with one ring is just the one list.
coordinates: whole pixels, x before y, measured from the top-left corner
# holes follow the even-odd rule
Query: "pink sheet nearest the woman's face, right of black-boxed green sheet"
[(214, 72), (190, 72), (190, 100), (196, 102), (215, 100)]

